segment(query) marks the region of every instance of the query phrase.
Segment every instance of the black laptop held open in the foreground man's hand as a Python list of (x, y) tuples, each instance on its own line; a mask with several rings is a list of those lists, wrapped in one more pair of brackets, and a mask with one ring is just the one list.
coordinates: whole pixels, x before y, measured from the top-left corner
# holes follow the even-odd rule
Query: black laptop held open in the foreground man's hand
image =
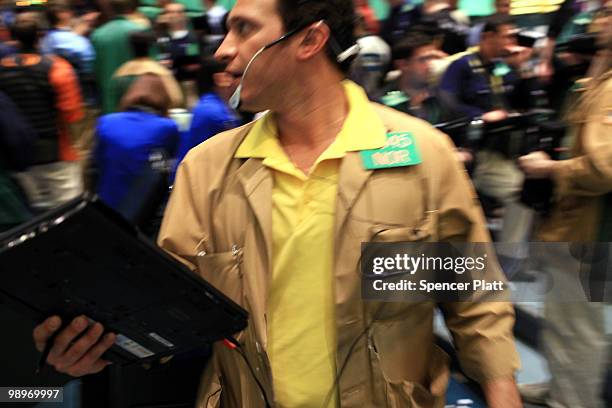
[(89, 195), (0, 235), (0, 307), (7, 305), (37, 321), (86, 315), (102, 323), (118, 334), (104, 358), (120, 364), (193, 351), (248, 319)]

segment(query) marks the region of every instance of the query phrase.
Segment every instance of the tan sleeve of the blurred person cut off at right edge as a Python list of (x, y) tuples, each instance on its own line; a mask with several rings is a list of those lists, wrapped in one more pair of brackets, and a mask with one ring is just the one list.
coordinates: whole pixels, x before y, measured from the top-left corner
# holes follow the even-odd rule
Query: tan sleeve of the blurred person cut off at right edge
[(559, 195), (598, 196), (612, 191), (612, 79), (581, 129), (582, 154), (556, 163)]

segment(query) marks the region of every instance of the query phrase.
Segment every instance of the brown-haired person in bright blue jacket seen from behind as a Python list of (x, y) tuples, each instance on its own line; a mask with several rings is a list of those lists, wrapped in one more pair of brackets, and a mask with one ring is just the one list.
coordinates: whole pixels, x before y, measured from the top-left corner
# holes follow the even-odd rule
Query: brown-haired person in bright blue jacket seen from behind
[(149, 165), (151, 153), (162, 150), (174, 157), (179, 132), (175, 122), (166, 117), (169, 105), (159, 76), (144, 74), (121, 99), (121, 111), (98, 120), (96, 191), (109, 206), (119, 208), (131, 184)]

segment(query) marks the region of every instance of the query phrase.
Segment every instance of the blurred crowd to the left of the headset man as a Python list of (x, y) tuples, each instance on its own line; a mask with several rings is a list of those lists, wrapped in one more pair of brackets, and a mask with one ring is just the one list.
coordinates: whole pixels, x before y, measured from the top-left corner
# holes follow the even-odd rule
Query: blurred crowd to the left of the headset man
[(3, 6), (0, 92), (18, 112), (3, 117), (3, 230), (85, 190), (118, 209), (152, 152), (176, 159), (242, 123), (212, 58), (227, 10), (207, 7), (189, 18), (174, 2)]

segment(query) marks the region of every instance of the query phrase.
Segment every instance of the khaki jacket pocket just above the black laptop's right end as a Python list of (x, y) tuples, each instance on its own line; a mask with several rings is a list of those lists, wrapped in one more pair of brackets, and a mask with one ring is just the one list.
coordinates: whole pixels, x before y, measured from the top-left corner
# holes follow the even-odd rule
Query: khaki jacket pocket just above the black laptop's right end
[(242, 248), (231, 251), (200, 253), (196, 257), (198, 271), (206, 281), (237, 304), (244, 306), (242, 282)]

